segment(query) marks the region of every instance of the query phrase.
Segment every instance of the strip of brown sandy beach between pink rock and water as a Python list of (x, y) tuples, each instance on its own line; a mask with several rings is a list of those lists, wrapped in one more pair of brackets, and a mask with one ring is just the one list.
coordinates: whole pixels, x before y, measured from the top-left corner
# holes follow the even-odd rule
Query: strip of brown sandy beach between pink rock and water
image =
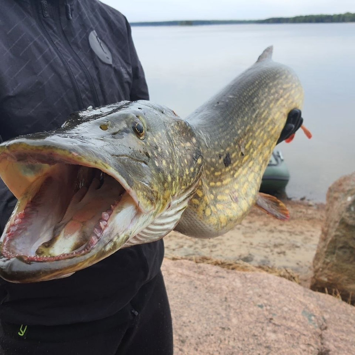
[(214, 239), (195, 239), (173, 231), (164, 238), (165, 256), (207, 256), (286, 268), (299, 275), (301, 285), (308, 286), (325, 205), (300, 200), (284, 203), (290, 211), (288, 221), (275, 219), (254, 207), (240, 225)]

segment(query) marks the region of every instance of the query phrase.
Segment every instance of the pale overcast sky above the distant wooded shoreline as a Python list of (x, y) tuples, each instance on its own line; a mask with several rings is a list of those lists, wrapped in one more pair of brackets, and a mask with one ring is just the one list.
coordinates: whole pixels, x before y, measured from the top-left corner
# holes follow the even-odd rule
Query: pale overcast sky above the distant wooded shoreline
[(355, 12), (355, 0), (101, 0), (130, 22), (257, 20), (268, 17)]

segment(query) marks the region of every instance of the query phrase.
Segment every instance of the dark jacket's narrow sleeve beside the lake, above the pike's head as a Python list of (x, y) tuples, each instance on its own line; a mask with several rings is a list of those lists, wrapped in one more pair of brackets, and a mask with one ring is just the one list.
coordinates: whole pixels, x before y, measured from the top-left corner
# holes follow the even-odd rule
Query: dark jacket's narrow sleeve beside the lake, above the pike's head
[(129, 41), (129, 50), (131, 54), (132, 64), (132, 86), (130, 93), (130, 100), (149, 100), (148, 86), (146, 78), (144, 77), (144, 71), (141, 62), (138, 59), (136, 48), (133, 44), (131, 26), (126, 19), (127, 34)]

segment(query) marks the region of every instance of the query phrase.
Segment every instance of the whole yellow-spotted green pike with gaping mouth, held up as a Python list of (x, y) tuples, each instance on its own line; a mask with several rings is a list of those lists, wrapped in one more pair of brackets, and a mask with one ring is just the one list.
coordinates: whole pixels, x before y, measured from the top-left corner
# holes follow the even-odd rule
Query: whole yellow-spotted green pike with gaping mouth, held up
[(254, 204), (287, 219), (258, 189), (303, 90), (271, 57), (269, 47), (186, 120), (148, 101), (120, 102), (0, 144), (0, 175), (18, 199), (0, 239), (0, 276), (65, 277), (173, 229), (222, 235)]

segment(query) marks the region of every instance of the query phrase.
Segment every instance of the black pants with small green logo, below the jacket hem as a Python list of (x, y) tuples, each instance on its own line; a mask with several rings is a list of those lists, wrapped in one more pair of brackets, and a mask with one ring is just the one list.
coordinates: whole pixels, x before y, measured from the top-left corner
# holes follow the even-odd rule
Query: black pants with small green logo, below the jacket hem
[(161, 273), (143, 285), (129, 305), (105, 320), (25, 327), (2, 322), (0, 355), (173, 354), (170, 307)]

